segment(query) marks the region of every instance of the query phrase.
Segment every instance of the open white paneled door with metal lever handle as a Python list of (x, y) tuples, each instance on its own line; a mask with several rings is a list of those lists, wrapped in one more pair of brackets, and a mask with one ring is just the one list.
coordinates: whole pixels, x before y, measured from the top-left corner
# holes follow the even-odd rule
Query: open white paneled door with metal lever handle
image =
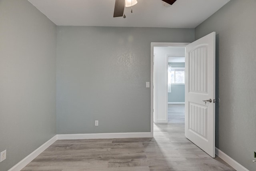
[(185, 136), (212, 157), (215, 157), (215, 34), (188, 44), (185, 58)]

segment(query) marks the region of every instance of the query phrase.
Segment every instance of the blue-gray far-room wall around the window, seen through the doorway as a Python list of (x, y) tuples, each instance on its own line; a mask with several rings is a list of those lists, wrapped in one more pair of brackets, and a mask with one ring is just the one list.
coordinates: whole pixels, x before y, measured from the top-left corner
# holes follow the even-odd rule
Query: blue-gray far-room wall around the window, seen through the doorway
[[(174, 68), (185, 68), (185, 63), (168, 63)], [(168, 92), (168, 102), (185, 102), (185, 84), (172, 84)]]

